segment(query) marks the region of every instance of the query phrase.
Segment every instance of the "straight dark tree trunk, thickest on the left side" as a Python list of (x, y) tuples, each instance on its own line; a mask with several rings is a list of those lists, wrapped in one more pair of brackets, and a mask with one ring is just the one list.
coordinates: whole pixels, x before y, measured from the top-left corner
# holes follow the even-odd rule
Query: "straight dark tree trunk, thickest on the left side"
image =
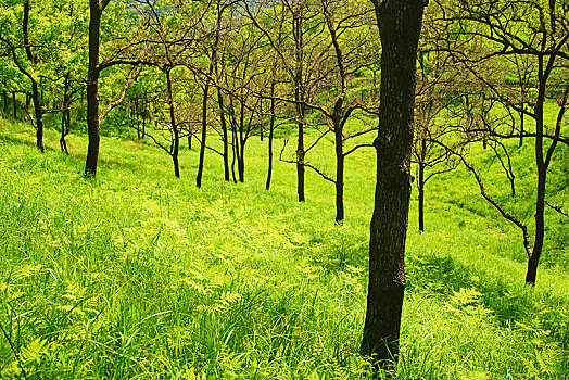
[(99, 0), (89, 0), (89, 68), (87, 74), (87, 160), (85, 163), (85, 177), (97, 176), (99, 161), (99, 37), (101, 15), (103, 9)]

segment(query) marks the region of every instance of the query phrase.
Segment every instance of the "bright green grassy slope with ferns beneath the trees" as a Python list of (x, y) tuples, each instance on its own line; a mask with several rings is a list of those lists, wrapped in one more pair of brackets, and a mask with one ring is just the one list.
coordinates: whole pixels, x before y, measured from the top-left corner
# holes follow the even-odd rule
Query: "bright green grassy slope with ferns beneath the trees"
[[(163, 152), (104, 138), (89, 182), (80, 176), (86, 141), (69, 140), (71, 157), (41, 155), (28, 126), (0, 121), (0, 321), (28, 378), (364, 375), (356, 353), (372, 152), (346, 163), (347, 219), (336, 227), (333, 187), (314, 174), (306, 204), (295, 202), (291, 166), (277, 163), (264, 190), (266, 144), (256, 139), (244, 185), (223, 182), (220, 160), (207, 152), (202, 190), (193, 185), (197, 151), (182, 152), (176, 180)], [(58, 147), (53, 131), (47, 145)], [(323, 145), (312, 160), (331, 152)], [(530, 157), (529, 147), (515, 155)], [(476, 160), (496, 182), (485, 156)], [(567, 208), (562, 169), (552, 202)], [(528, 170), (521, 199), (532, 191)], [(416, 203), (409, 220), (399, 377), (568, 376), (566, 220), (548, 214), (555, 239), (530, 291), (519, 232), (480, 199), (468, 173), (435, 178), (427, 191), (428, 231), (416, 232)], [(0, 364), (4, 378), (21, 373), (5, 338)]]

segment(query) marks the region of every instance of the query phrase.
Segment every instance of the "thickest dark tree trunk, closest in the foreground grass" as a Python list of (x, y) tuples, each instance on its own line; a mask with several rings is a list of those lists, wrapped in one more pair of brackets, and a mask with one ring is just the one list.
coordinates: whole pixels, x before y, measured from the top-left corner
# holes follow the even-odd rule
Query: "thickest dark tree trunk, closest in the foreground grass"
[(369, 284), (362, 353), (392, 368), (400, 351), (417, 45), (425, 2), (374, 0), (382, 45), (377, 185), (369, 239)]

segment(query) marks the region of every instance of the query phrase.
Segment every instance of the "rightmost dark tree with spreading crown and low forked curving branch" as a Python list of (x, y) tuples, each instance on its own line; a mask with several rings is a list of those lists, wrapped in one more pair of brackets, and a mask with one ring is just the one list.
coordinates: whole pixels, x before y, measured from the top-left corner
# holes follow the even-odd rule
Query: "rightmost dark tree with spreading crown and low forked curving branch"
[[(538, 0), (452, 1), (445, 8), (446, 12), (441, 17), (447, 30), (447, 38), (444, 40), (461, 38), (464, 41), (460, 50), (448, 49), (448, 51), (506, 110), (522, 115), (521, 121), (526, 116), (535, 124), (534, 130), (531, 130), (521, 122), (520, 125), (523, 127), (515, 131), (511, 127), (508, 128), (509, 130), (504, 130), (501, 126), (485, 123), (484, 127), (478, 130), (494, 138), (533, 138), (538, 173), (533, 243), (530, 241), (530, 231), (526, 224), (495, 202), (483, 189), (478, 174), (470, 169), (477, 177), (484, 199), (520, 229), (523, 249), (528, 255), (526, 283), (534, 286), (545, 238), (547, 172), (559, 142), (569, 144), (568, 139), (561, 136), (569, 89), (567, 4), (556, 1), (545, 3)], [(459, 37), (456, 36), (457, 34)], [(507, 86), (507, 78), (504, 78), (503, 74), (486, 76), (484, 73), (488, 69), (480, 69), (480, 67), (504, 65), (505, 56), (510, 58), (509, 67), (518, 73), (514, 86)], [(544, 106), (548, 99), (554, 99), (558, 105), (557, 118), (553, 126), (547, 126), (545, 122)], [(527, 104), (530, 106), (527, 107)], [(495, 109), (486, 107), (484, 112), (495, 112)]]

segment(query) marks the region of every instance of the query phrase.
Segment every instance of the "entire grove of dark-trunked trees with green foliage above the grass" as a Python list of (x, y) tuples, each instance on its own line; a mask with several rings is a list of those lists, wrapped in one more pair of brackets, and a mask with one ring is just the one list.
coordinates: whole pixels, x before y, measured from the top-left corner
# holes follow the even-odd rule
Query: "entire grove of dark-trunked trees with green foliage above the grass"
[[(334, 223), (342, 224), (350, 215), (347, 157), (375, 149), (361, 351), (378, 366), (389, 367), (399, 354), (414, 185), (422, 231), (428, 180), (464, 166), (492, 210), (519, 228), (531, 286), (547, 237), (544, 215), (567, 216), (547, 200), (552, 163), (569, 145), (567, 1), (0, 4), (3, 115), (29, 123), (40, 152), (45, 128), (61, 128), (66, 154), (65, 138), (86, 135), (87, 178), (97, 176), (104, 154), (101, 134), (151, 140), (169, 155), (176, 177), (190, 175), (180, 172), (185, 139), (189, 149), (198, 141), (198, 188), (211, 175), (204, 162), (217, 156), (225, 181), (244, 182), (248, 141), (267, 138), (266, 189), (279, 157), (296, 168), (299, 202), (309, 202), (305, 172), (313, 170), (333, 185)], [(546, 109), (555, 109), (553, 119)], [(284, 139), (275, 140), (277, 132)], [(533, 224), (489, 190), (471, 156), (478, 144), (501, 163), (515, 201), (507, 204), (531, 202)], [(510, 155), (523, 144), (534, 150), (531, 200), (515, 198)], [(333, 173), (313, 159), (315, 147), (333, 152)]]

